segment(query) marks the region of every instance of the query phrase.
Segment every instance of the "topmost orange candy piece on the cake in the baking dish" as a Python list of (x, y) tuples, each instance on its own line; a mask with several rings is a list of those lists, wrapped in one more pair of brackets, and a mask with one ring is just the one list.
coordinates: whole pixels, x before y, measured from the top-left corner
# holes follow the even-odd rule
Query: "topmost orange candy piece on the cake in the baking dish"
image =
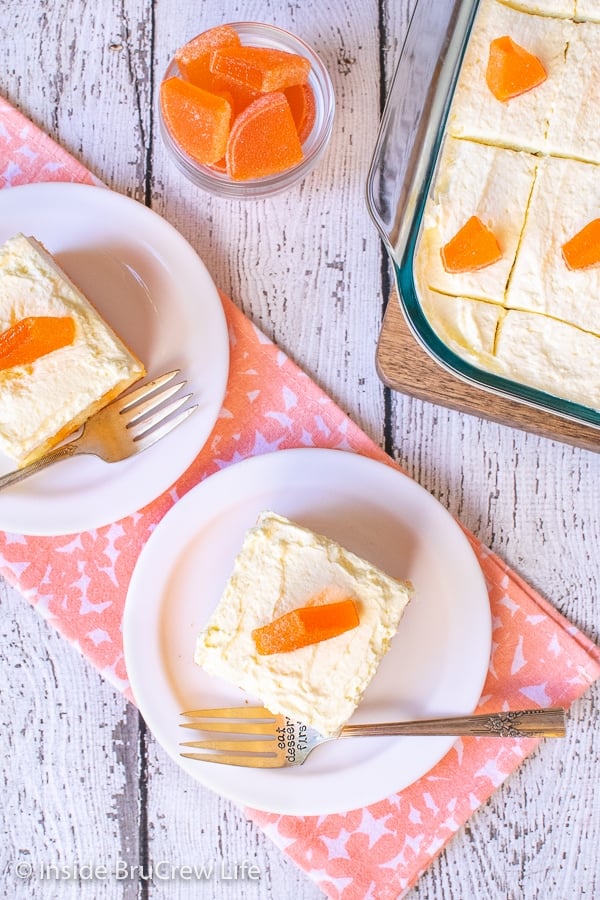
[(485, 80), (497, 100), (504, 102), (525, 94), (547, 77), (538, 57), (508, 35), (491, 42)]

